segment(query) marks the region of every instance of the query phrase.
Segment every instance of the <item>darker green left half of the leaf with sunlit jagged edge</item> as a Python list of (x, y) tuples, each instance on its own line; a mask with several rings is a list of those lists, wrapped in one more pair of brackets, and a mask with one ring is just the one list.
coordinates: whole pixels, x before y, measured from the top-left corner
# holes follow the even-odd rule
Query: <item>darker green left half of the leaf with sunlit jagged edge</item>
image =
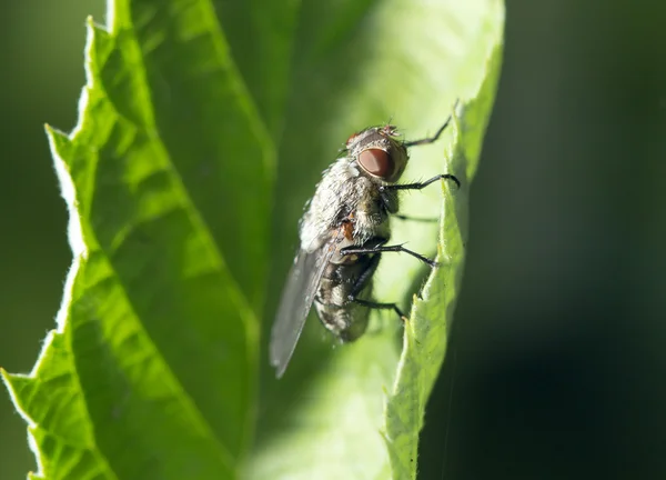
[(208, 2), (113, 14), (89, 24), (80, 124), (49, 129), (75, 257), (58, 330), (4, 379), (47, 478), (233, 477), (274, 148)]

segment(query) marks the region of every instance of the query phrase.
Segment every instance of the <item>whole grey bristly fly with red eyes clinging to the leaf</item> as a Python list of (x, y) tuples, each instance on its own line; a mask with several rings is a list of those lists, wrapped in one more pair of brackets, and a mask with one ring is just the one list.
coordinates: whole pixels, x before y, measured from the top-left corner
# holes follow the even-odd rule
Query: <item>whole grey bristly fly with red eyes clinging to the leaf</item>
[(451, 116), (431, 138), (401, 141), (394, 126), (371, 127), (352, 134), (343, 156), (322, 176), (300, 223), (301, 248), (294, 259), (271, 333), (270, 360), (282, 377), (311, 307), (326, 329), (343, 342), (361, 337), (370, 309), (395, 303), (372, 300), (372, 277), (384, 252), (408, 253), (435, 262), (401, 244), (386, 244), (390, 217), (398, 211), (400, 190), (421, 190), (441, 179), (460, 187), (448, 173), (416, 183), (397, 183), (408, 160), (407, 148), (433, 143)]

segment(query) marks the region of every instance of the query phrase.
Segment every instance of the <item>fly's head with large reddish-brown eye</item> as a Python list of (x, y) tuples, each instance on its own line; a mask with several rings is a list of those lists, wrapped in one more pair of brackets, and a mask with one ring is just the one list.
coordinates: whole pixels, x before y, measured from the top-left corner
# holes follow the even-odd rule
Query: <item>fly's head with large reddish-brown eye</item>
[(346, 149), (352, 161), (371, 179), (395, 183), (407, 166), (407, 149), (394, 126), (372, 127), (351, 136)]

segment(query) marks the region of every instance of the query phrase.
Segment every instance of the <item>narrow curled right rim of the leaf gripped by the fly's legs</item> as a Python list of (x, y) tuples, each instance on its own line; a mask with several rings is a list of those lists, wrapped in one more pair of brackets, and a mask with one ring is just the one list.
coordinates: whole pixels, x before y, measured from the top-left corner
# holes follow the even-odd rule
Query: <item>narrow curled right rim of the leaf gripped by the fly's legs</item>
[[(396, 380), (385, 410), (385, 439), (393, 477), (416, 478), (418, 434), (427, 399), (444, 362), (447, 331), (462, 282), (467, 243), (468, 186), (478, 164), (483, 132), (491, 112), (500, 72), (502, 49), (495, 48), (486, 63), (484, 82), (454, 117), (453, 142), (447, 152), (450, 171), (465, 179), (457, 190), (444, 188), (436, 268), (420, 296), (414, 296), (405, 323)], [(451, 187), (451, 184), (448, 184)]]

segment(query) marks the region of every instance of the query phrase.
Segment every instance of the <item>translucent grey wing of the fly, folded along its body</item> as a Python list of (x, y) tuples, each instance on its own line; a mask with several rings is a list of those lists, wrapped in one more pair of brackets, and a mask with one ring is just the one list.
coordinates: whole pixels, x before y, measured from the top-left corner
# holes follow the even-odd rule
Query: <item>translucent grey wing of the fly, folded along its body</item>
[(275, 367), (278, 378), (282, 377), (294, 353), (322, 276), (341, 236), (342, 229), (336, 238), (320, 249), (313, 252), (301, 250), (289, 272), (271, 332), (271, 364)]

